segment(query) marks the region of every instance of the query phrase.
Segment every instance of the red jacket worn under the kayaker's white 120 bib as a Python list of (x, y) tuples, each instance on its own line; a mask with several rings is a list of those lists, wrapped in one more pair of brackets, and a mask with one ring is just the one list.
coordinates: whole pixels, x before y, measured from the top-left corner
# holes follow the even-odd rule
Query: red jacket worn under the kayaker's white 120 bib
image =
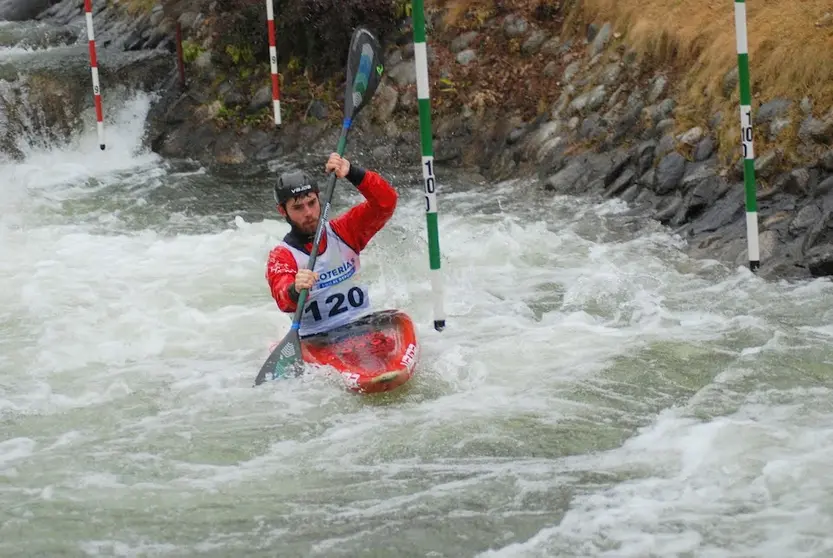
[[(347, 179), (361, 192), (365, 201), (330, 220), (328, 224), (337, 240), (343, 242), (346, 248), (358, 255), (359, 252), (364, 250), (370, 239), (393, 216), (398, 196), (396, 190), (374, 171), (351, 166)], [(330, 236), (330, 234), (321, 236), (321, 244), (318, 249), (319, 260), (325, 259), (328, 248), (327, 238)], [(337, 247), (333, 249), (337, 249)], [(302, 241), (290, 232), (284, 237), (283, 242), (269, 253), (266, 281), (269, 283), (269, 289), (278, 304), (278, 308), (283, 312), (295, 312), (297, 294), (295, 298), (291, 296), (290, 286), (295, 283), (299, 254), (306, 254), (308, 257), (311, 250), (312, 242), (302, 244)], [(316, 260), (316, 271), (318, 271), (319, 260)], [(294, 289), (292, 291), (294, 292)], [(312, 295), (312, 291), (310, 294)]]

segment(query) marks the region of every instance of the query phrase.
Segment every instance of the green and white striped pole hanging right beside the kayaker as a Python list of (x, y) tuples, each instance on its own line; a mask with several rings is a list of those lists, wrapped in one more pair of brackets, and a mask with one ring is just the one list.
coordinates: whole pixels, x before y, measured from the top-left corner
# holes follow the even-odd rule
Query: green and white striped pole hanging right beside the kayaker
[(434, 146), (431, 133), (431, 96), (428, 87), (428, 49), (425, 45), (423, 0), (411, 1), (414, 25), (414, 63), (419, 102), (419, 137), (422, 144), (422, 178), (425, 185), (425, 218), (428, 225), (428, 261), (434, 297), (434, 329), (445, 329), (443, 280), (440, 274), (440, 234), (437, 227), (437, 182), (434, 178)]

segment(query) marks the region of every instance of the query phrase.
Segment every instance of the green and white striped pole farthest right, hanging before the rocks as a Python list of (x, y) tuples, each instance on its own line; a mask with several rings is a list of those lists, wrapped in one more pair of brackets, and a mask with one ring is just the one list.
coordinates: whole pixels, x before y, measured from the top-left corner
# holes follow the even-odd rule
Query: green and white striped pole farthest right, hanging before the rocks
[(738, 44), (740, 138), (743, 145), (743, 183), (746, 188), (746, 238), (749, 269), (761, 266), (758, 253), (758, 198), (755, 191), (755, 149), (752, 145), (752, 94), (749, 86), (749, 45), (746, 39), (746, 2), (735, 0), (735, 37)]

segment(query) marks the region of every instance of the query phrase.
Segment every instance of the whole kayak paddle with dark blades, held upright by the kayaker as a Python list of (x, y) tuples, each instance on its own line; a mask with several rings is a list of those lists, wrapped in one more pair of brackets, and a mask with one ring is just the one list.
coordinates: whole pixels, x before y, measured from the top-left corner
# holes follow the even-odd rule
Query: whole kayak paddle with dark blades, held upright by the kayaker
[[(344, 122), (341, 127), (341, 137), (338, 140), (338, 154), (344, 155), (344, 148), (347, 146), (347, 133), (353, 124), (353, 119), (365, 106), (376, 92), (379, 81), (382, 78), (384, 65), (382, 62), (382, 47), (373, 34), (364, 27), (358, 27), (353, 32), (350, 41), (350, 51), (347, 56), (347, 84), (344, 93)], [(324, 232), (324, 222), (327, 220), (327, 213), (330, 211), (330, 201), (335, 190), (336, 174), (330, 173), (327, 179), (327, 188), (321, 199), (321, 216), (318, 218), (318, 226), (315, 229), (315, 237), (312, 242), (312, 252), (309, 255), (307, 269), (315, 268), (315, 260), (318, 257), (318, 247), (321, 243), (321, 235)], [(262, 384), (267, 379), (275, 380), (290, 374), (299, 375), (303, 371), (303, 360), (301, 358), (301, 337), (298, 332), (301, 326), (301, 315), (304, 312), (304, 303), (307, 300), (309, 291), (304, 289), (298, 297), (298, 307), (295, 309), (295, 317), (292, 326), (286, 337), (278, 343), (255, 378), (255, 385)]]

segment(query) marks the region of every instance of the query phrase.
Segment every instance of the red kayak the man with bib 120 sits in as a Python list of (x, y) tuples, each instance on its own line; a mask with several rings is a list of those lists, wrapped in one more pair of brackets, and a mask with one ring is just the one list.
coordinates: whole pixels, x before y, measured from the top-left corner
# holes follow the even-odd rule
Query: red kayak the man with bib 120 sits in
[(301, 353), (305, 362), (338, 370), (350, 390), (380, 393), (411, 379), (419, 342), (407, 314), (381, 310), (301, 339)]

